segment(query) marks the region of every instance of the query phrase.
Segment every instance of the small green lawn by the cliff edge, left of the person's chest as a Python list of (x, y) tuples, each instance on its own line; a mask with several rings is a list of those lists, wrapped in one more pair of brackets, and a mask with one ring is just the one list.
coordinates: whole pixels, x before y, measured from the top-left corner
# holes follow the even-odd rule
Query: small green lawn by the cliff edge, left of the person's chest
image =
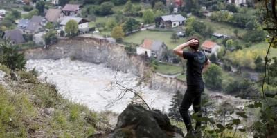
[(157, 66), (157, 72), (160, 72), (165, 75), (175, 75), (179, 72), (182, 72), (181, 66), (173, 66), (173, 65), (168, 65), (165, 63), (158, 63)]

